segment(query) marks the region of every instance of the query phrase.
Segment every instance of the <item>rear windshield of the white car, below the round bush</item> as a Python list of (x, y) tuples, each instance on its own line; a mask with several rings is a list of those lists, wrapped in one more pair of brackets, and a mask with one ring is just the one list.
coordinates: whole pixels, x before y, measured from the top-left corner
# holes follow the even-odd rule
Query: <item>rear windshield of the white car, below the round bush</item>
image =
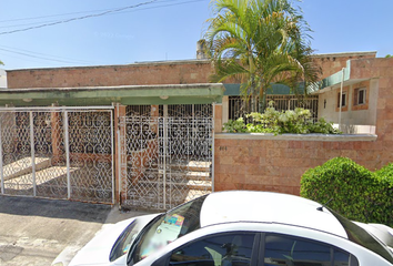
[(385, 258), (387, 262), (393, 264), (393, 254), (389, 249), (386, 245), (384, 245), (381, 241), (370, 234), (367, 231), (363, 229), (355, 223), (352, 223), (347, 218), (341, 216), (333, 209), (329, 208), (329, 211), (337, 218), (341, 225), (344, 227), (347, 237), (351, 242), (356, 243), (376, 254), (381, 257)]

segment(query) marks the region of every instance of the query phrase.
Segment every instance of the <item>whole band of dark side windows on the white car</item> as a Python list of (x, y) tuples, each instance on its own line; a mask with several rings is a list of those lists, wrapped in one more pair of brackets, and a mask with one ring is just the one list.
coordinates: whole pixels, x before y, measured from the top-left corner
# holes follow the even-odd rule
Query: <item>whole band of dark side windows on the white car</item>
[(198, 238), (153, 266), (359, 266), (355, 256), (328, 243), (275, 233), (229, 232)]

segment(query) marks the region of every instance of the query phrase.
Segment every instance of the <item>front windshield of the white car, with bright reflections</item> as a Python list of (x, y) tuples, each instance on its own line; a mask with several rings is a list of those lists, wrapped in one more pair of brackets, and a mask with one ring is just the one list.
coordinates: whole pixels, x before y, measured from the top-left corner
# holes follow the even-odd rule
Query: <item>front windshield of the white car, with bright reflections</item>
[(147, 225), (133, 243), (128, 265), (133, 265), (179, 237), (200, 228), (200, 213), (205, 196), (180, 205)]

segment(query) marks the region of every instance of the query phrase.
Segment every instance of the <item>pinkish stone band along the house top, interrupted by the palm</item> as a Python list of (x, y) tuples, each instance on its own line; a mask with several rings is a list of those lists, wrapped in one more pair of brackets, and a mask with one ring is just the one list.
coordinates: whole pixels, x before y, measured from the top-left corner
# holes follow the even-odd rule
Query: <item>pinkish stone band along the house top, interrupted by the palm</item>
[[(330, 76), (346, 66), (350, 59), (372, 59), (375, 54), (321, 54), (313, 61)], [(386, 65), (387, 66), (387, 65)], [(389, 70), (386, 70), (389, 71)], [(213, 73), (210, 61), (147, 62), (124, 65), (33, 69), (7, 71), (9, 89), (74, 88), (111, 85), (190, 84), (210, 82)], [(234, 79), (226, 83), (240, 83)]]

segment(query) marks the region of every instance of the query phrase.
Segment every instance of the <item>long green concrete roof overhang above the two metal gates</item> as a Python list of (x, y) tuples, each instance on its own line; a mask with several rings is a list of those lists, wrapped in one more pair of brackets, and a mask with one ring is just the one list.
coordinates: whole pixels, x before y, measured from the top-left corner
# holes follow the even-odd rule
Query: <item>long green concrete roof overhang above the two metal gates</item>
[(0, 105), (66, 106), (221, 103), (221, 83), (0, 90)]

